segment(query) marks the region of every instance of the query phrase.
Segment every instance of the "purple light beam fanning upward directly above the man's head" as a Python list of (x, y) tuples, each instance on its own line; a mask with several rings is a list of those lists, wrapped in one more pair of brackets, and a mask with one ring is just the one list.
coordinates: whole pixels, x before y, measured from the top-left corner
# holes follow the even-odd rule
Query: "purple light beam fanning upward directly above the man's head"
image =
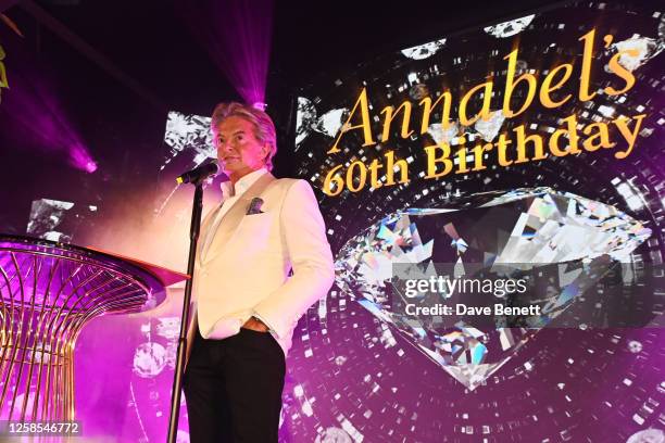
[(231, 0), (197, 8), (180, 3), (189, 27), (247, 103), (264, 103), (273, 1)]

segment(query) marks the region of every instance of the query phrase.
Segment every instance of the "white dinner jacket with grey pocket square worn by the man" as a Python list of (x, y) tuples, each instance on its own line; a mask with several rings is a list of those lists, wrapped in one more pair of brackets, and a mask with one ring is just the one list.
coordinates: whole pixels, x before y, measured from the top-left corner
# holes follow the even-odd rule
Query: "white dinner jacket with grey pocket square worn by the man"
[(196, 327), (205, 339), (223, 339), (256, 315), (286, 355), (298, 319), (332, 284), (332, 254), (312, 188), (305, 180), (263, 177), (269, 178), (260, 194), (262, 213), (247, 214), (256, 197), (250, 187), (227, 208), (206, 251), (218, 208), (201, 224), (188, 354)]

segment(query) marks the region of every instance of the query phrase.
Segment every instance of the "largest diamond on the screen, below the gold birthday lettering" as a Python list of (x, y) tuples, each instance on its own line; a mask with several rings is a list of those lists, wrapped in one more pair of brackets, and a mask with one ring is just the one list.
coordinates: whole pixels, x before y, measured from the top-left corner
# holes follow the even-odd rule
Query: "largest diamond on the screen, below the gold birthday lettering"
[[(337, 286), (443, 370), (474, 390), (644, 242), (651, 230), (613, 206), (550, 188), (486, 192), (447, 208), (410, 208), (350, 239), (336, 258)], [(440, 264), (450, 264), (440, 266)], [(530, 275), (540, 315), (482, 325), (468, 318), (407, 315), (477, 294), (418, 293), (399, 278)], [(501, 294), (485, 295), (488, 303)], [(477, 299), (480, 300), (480, 299)], [(564, 316), (565, 317), (565, 316)], [(562, 317), (562, 318), (564, 318)], [(561, 318), (559, 320), (562, 320)], [(451, 324), (451, 321), (454, 321)]]

